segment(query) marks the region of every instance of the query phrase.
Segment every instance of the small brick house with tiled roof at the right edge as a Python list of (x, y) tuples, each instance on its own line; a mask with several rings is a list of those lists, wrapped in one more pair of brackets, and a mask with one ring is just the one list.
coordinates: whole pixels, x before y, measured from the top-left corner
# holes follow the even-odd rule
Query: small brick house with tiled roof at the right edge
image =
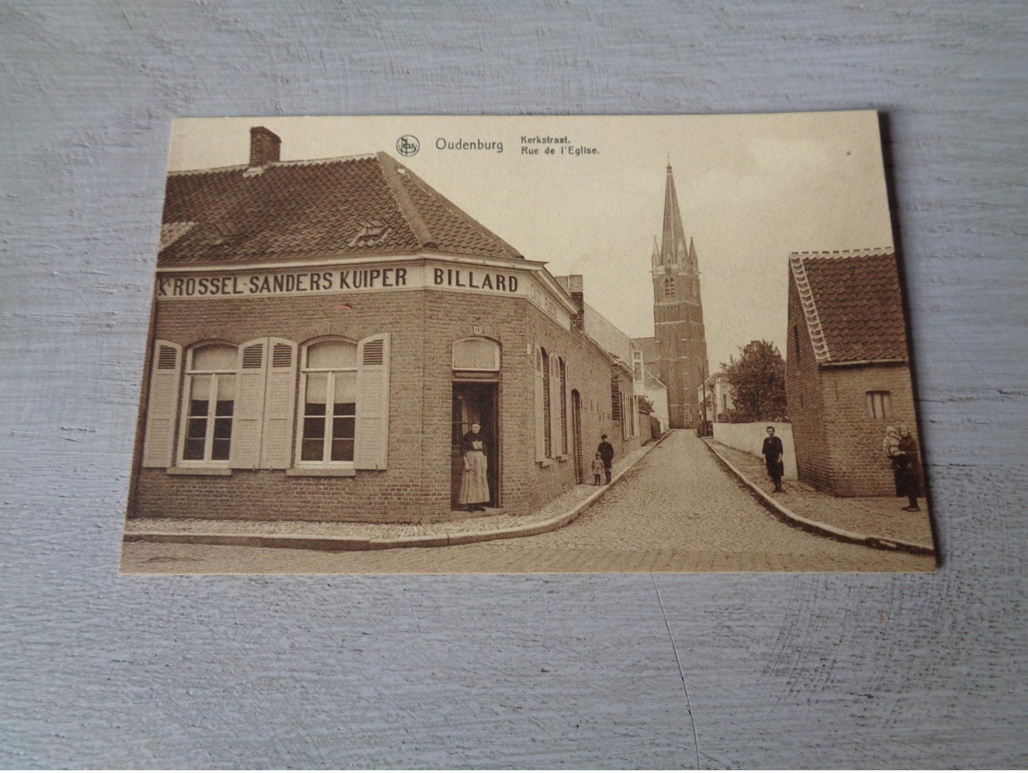
[(916, 435), (895, 254), (793, 253), (785, 393), (798, 473), (837, 496), (884, 496), (885, 427)]

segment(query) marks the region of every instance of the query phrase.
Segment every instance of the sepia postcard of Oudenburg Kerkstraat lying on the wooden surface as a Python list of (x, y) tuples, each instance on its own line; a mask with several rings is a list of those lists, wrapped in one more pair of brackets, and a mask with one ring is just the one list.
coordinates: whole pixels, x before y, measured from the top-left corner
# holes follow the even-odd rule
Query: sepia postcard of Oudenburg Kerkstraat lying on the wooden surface
[(873, 111), (180, 119), (155, 266), (123, 574), (934, 569)]

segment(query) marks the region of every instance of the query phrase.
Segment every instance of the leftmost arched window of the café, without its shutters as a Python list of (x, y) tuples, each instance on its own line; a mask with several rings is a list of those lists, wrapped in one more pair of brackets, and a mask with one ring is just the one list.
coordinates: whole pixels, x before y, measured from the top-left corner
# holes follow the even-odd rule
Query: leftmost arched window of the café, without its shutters
[[(243, 361), (246, 366), (246, 354)], [(230, 344), (206, 344), (187, 352), (179, 455), (183, 466), (228, 466), (238, 362), (238, 349)]]

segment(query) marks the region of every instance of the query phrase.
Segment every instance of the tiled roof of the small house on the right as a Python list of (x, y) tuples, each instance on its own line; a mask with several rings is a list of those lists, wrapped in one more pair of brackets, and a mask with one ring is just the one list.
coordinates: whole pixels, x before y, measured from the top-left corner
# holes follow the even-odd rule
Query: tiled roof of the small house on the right
[(891, 248), (793, 253), (790, 266), (818, 362), (907, 359)]

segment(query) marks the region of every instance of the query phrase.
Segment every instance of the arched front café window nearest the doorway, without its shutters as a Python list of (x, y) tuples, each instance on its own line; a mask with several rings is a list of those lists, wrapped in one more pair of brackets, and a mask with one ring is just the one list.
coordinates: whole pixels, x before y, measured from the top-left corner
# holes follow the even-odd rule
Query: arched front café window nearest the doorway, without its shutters
[(299, 464), (353, 464), (357, 425), (357, 344), (338, 339), (303, 349)]

